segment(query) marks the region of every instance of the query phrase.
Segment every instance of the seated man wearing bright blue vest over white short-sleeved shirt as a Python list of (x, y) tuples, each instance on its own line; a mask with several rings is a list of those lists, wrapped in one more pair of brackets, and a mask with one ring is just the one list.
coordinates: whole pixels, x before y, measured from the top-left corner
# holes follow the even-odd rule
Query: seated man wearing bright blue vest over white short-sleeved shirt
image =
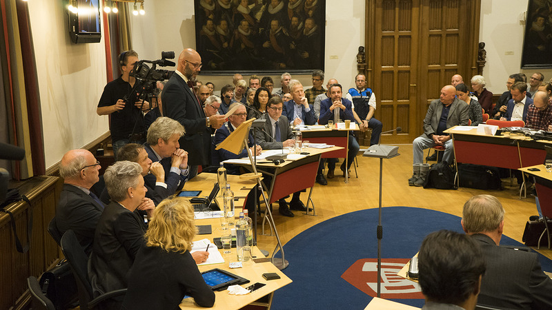
[(364, 74), (357, 74), (355, 76), (355, 84), (357, 87), (349, 89), (345, 98), (353, 102), (353, 109), (362, 120), (362, 124), (359, 124), (359, 127), (372, 129), (370, 145), (375, 145), (380, 141), (380, 134), (382, 134), (382, 122), (373, 117), (375, 112), (375, 94), (371, 88), (366, 87), (366, 76)]

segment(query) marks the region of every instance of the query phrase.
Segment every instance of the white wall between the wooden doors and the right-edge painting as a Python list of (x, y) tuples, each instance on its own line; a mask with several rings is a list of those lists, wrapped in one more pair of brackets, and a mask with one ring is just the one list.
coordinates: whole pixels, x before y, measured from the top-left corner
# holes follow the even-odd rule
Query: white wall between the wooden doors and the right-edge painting
[[(552, 69), (522, 70), (522, 49), (525, 23), (520, 21), (528, 0), (482, 0), (480, 41), (485, 42), (487, 62), (483, 70), (487, 90), (500, 94), (506, 91), (508, 76), (524, 72), (542, 72), (544, 81), (552, 78)], [(466, 77), (464, 77), (466, 80)]]

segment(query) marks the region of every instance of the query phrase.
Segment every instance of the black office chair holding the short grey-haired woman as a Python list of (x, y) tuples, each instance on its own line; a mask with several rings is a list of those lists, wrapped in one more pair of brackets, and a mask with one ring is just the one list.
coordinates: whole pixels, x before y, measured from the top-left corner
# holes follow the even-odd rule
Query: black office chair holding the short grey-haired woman
[(75, 231), (68, 230), (61, 237), (61, 251), (69, 261), (71, 271), (77, 281), (77, 289), (79, 289), (79, 304), (81, 310), (98, 309), (99, 304), (117, 296), (124, 296), (126, 289), (117, 289), (103, 293), (94, 298), (92, 293), (92, 285), (88, 281), (88, 256), (77, 240)]

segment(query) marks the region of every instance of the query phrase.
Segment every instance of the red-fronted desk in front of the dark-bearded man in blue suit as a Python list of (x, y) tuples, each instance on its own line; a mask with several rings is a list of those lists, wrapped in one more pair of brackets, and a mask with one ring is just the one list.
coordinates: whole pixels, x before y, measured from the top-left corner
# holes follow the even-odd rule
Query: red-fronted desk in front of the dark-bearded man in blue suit
[[(325, 152), (322, 154), (322, 158), (345, 158), (345, 165), (347, 163), (347, 153), (349, 147), (349, 132), (358, 131), (359, 127), (355, 122), (351, 122), (349, 129), (338, 129), (337, 124), (332, 128), (324, 129), (309, 129), (301, 130), (303, 140), (308, 140), (310, 143), (326, 143), (329, 145), (335, 145), (343, 147), (343, 149), (336, 149), (332, 152)], [(307, 126), (313, 128), (313, 126)], [(348, 183), (348, 170), (345, 172), (345, 183)]]

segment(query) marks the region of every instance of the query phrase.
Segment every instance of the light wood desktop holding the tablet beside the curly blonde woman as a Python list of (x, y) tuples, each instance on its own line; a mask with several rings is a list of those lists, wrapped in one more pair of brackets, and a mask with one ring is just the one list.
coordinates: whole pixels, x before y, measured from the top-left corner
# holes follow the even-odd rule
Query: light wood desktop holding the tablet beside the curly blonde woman
[[(201, 240), (204, 238), (208, 238), (209, 240), (213, 241), (213, 238), (220, 237), (222, 234), (222, 230), (220, 228), (220, 220), (218, 218), (196, 220), (195, 223), (197, 225), (211, 225), (211, 227), (213, 228), (213, 234), (197, 235), (195, 236), (194, 240)], [(219, 251), (221, 251), (221, 249), (219, 249)], [(268, 298), (268, 302), (271, 303), (272, 295), (274, 291), (292, 282), (291, 279), (288, 278), (288, 276), (282, 273), (282, 271), (279, 271), (279, 269), (277, 269), (277, 267), (273, 265), (273, 263), (270, 261), (250, 262), (249, 263), (250, 265), (245, 265), (243, 268), (230, 269), (230, 267), (228, 267), (228, 263), (237, 261), (236, 249), (233, 248), (230, 254), (221, 253), (221, 255), (225, 260), (224, 263), (198, 266), (199, 271), (203, 272), (213, 268), (219, 268), (219, 269), (223, 269), (231, 273), (234, 273), (237, 276), (241, 276), (243, 278), (248, 279), (250, 282), (246, 285), (242, 285), (243, 287), (248, 287), (249, 285), (253, 285), (253, 283), (255, 282), (266, 283), (266, 286), (262, 287), (261, 289), (258, 289), (257, 291), (254, 291), (253, 293), (248, 293), (246, 295), (239, 295), (239, 296), (229, 295), (228, 291), (226, 290), (215, 291), (215, 305), (213, 306), (213, 308), (210, 308), (210, 309), (221, 309), (221, 310), (222, 309), (224, 310), (240, 309), (242, 307), (245, 307), (247, 304), (255, 302), (255, 300), (258, 300), (259, 298), (262, 298), (263, 296), (266, 296), (268, 294), (270, 294)], [(256, 256), (257, 258), (264, 258), (264, 255), (261, 253), (261, 251), (259, 251), (257, 247), (253, 247), (253, 256)], [(267, 272), (278, 273), (280, 278), (278, 280), (267, 281), (262, 277), (262, 274)], [(197, 305), (195, 305), (195, 303), (193, 302), (193, 298), (186, 298), (181, 302), (180, 309), (204, 309), (204, 308), (197, 307)]]

